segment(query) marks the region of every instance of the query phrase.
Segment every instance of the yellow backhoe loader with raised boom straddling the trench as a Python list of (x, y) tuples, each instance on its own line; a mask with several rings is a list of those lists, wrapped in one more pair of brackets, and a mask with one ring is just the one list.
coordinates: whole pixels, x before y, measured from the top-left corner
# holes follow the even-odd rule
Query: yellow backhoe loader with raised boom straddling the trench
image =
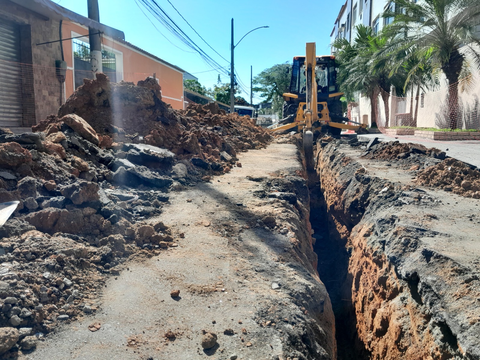
[[(313, 168), (313, 132), (340, 135), (342, 129), (366, 133), (366, 124), (345, 118), (336, 84), (335, 56), (316, 56), (315, 43), (307, 43), (306, 56), (293, 58), (290, 86), (283, 94), (282, 120), (269, 131), (293, 129), (303, 132), (307, 168)], [(348, 124), (354, 123), (355, 125)]]

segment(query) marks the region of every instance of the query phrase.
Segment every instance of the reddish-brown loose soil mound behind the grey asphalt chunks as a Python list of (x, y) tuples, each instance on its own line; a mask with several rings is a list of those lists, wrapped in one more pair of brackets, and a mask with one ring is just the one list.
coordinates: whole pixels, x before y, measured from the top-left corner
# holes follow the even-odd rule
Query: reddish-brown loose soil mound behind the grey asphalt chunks
[[(192, 104), (186, 110), (170, 108), (162, 101), (155, 79), (112, 84), (104, 74), (85, 79), (59, 109), (33, 127), (47, 131), (60, 117), (77, 114), (100, 135), (109, 135), (115, 143), (144, 143), (166, 148), (177, 159), (199, 157), (208, 163), (200, 167), (221, 171), (231, 168), (229, 161), (238, 151), (263, 147), (272, 139), (248, 116), (226, 114), (216, 103)], [(222, 153), (228, 155), (222, 156)], [(197, 165), (198, 166), (198, 165)]]

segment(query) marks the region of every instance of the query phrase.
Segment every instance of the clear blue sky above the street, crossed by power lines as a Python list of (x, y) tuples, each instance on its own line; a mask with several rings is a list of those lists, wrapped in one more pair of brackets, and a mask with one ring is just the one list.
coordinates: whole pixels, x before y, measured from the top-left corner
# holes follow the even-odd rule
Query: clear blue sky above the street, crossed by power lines
[[(87, 16), (87, 0), (54, 0), (74, 12)], [(175, 22), (221, 66), (229, 70), (229, 62), (210, 49), (175, 12), (167, 0), (156, 0)], [(235, 69), (250, 97), (250, 65), (253, 76), (275, 64), (291, 61), (305, 53), (305, 43), (316, 42), (317, 54), (328, 54), (330, 33), (342, 0), (170, 0), (193, 28), (225, 59), (230, 59), (230, 21), (234, 18), (235, 42), (255, 27), (268, 25), (246, 36), (235, 48)], [(125, 33), (125, 40), (156, 56), (195, 73), (201, 84), (216, 84), (218, 72), (210, 71), (196, 53), (179, 43), (156, 19), (145, 17), (134, 0), (98, 0), (100, 22)], [(146, 14), (149, 14), (145, 11)], [(305, 19), (303, 22), (302, 19)], [(222, 82), (229, 82), (222, 76)], [(254, 103), (260, 100), (253, 100)]]

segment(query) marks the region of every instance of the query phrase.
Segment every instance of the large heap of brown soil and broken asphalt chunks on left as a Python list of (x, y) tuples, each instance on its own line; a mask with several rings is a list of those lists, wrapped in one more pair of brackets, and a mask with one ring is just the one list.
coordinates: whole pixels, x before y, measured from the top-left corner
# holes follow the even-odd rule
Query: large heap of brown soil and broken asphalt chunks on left
[(0, 202), (20, 201), (0, 228), (0, 329), (24, 332), (12, 351), (95, 312), (104, 277), (128, 256), (177, 246), (182, 234), (149, 220), (168, 192), (228, 172), (237, 152), (270, 139), (216, 104), (169, 108), (154, 80), (110, 84), (101, 74), (33, 130), (0, 129)]

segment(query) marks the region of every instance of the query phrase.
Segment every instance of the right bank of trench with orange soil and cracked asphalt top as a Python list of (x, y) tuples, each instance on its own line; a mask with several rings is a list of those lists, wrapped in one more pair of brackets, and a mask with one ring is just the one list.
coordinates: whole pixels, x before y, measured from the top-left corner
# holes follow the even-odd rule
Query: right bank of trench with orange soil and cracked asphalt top
[[(429, 168), (431, 154), (392, 163), (366, 145), (334, 141), (319, 146), (317, 157), (326, 210), (319, 223), (329, 229), (329, 238), (315, 242), (319, 274), (337, 344), (350, 347), (339, 348), (338, 359), (479, 359), (478, 200), (417, 185), (414, 175)], [(335, 263), (338, 277), (322, 263)]]

